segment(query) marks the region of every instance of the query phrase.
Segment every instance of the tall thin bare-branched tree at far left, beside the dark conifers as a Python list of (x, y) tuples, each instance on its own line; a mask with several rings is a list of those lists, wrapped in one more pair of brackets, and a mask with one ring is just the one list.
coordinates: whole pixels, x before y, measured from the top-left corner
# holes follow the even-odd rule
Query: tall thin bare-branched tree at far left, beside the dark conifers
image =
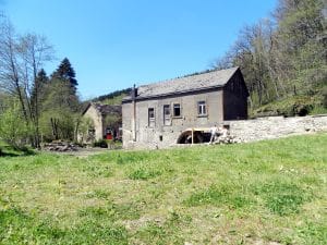
[(39, 147), (39, 83), (37, 73), (52, 59), (52, 47), (45, 37), (27, 34), (19, 36), (9, 20), (1, 23), (0, 85), (21, 103), (23, 120), (33, 134), (31, 143)]

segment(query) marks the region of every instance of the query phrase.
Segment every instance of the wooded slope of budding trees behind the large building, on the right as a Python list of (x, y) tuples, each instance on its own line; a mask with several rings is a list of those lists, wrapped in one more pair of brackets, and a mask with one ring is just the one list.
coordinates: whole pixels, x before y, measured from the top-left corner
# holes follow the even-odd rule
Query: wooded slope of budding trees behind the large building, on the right
[[(306, 107), (308, 113), (326, 112), (325, 32), (323, 0), (279, 0), (269, 19), (241, 29), (235, 44), (214, 68), (241, 68), (254, 114), (267, 103), (290, 102), (291, 97), (295, 103), (287, 109), (288, 114), (304, 112), (291, 111), (292, 107)], [(299, 103), (299, 96), (315, 100), (302, 99)]]

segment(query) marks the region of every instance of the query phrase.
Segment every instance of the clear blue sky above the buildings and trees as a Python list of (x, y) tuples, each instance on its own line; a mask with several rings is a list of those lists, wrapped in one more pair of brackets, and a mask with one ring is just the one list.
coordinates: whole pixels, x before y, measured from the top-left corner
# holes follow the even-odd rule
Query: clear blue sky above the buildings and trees
[(19, 33), (68, 57), (83, 99), (210, 68), (277, 0), (0, 0)]

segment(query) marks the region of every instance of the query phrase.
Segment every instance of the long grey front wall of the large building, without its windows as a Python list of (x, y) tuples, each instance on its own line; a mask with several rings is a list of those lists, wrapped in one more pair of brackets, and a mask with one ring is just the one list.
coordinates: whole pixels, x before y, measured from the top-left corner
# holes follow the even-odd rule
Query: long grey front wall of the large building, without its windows
[[(206, 115), (197, 114), (197, 102), (206, 101)], [(173, 105), (181, 106), (181, 115), (173, 117)], [(169, 125), (164, 123), (164, 106), (171, 108)], [(155, 109), (155, 125), (149, 126), (148, 108)], [(136, 142), (133, 142), (133, 105), (122, 105), (124, 148), (167, 148), (175, 145), (179, 136), (189, 127), (210, 127), (223, 121), (222, 90), (136, 101)]]

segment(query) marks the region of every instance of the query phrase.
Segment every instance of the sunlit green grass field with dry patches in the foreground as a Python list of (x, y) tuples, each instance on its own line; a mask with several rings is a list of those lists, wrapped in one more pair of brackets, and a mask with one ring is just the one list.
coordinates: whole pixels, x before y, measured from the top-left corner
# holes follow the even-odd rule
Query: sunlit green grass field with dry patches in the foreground
[(327, 244), (327, 133), (2, 157), (0, 244)]

